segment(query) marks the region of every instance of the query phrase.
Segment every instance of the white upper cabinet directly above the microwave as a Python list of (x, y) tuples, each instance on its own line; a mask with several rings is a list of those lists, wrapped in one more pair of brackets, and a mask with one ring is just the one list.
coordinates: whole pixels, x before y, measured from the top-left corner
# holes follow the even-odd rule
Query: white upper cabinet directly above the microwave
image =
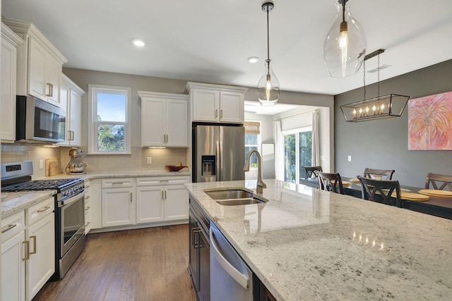
[(17, 94), (30, 94), (60, 106), (62, 67), (68, 60), (33, 23), (2, 21), (24, 41), (18, 47)]

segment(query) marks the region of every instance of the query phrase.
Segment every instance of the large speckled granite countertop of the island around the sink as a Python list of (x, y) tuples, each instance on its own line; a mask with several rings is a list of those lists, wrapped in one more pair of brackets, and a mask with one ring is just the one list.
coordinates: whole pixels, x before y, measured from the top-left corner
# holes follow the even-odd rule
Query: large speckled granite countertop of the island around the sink
[(452, 300), (452, 221), (264, 180), (263, 204), (221, 206), (186, 184), (245, 262), (283, 300)]

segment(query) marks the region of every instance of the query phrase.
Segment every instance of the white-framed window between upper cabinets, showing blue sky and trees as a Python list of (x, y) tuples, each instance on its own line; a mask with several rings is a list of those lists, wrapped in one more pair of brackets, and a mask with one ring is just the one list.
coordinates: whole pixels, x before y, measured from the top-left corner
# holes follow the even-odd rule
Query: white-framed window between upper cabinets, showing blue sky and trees
[(130, 154), (131, 89), (88, 85), (88, 93), (88, 153)]

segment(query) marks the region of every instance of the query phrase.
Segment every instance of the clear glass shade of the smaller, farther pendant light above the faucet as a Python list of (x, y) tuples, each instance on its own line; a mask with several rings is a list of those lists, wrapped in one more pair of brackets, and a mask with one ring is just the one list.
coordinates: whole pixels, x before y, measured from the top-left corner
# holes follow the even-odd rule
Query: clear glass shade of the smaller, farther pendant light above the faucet
[(280, 98), (280, 82), (272, 70), (272, 61), (266, 60), (266, 72), (257, 84), (257, 98), (262, 106), (274, 106)]

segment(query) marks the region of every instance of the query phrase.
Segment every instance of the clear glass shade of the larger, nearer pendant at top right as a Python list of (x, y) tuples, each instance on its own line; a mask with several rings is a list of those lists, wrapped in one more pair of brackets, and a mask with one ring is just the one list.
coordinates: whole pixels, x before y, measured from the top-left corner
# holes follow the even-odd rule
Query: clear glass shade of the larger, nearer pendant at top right
[(334, 0), (338, 16), (323, 44), (323, 61), (333, 78), (354, 75), (364, 61), (366, 35), (350, 14), (351, 0)]

